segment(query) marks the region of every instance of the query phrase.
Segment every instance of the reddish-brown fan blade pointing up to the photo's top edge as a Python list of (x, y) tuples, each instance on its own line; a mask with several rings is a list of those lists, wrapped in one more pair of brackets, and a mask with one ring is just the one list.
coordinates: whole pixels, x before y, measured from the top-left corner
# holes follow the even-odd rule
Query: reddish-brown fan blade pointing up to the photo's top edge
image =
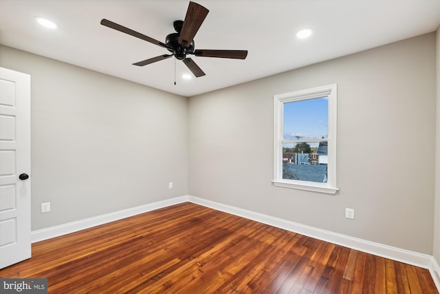
[(179, 44), (184, 47), (188, 47), (192, 39), (194, 39), (195, 34), (199, 30), (201, 23), (208, 15), (209, 10), (203, 6), (190, 1), (188, 10), (186, 11), (186, 17), (184, 20), (184, 25), (181, 27), (179, 35)]

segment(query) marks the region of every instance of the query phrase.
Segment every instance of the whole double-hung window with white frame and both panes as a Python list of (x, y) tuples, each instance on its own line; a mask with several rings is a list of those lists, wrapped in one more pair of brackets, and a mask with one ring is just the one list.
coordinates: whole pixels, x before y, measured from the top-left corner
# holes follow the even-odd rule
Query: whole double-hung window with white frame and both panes
[(334, 194), (337, 85), (274, 96), (274, 180), (278, 187)]

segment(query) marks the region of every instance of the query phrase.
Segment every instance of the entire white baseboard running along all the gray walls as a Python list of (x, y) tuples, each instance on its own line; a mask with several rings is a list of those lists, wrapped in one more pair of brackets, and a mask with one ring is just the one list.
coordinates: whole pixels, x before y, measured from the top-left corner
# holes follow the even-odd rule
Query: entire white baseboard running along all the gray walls
[(240, 209), (238, 207), (232, 207), (230, 205), (221, 204), (219, 202), (214, 202), (194, 196), (180, 196), (168, 200), (145, 204), (139, 207), (133, 207), (131, 209), (124, 209), (121, 211), (115, 211), (113, 213), (107, 213), (102, 216), (96, 216), (94, 218), (87, 218), (85, 220), (69, 222), (67, 224), (61, 224), (59, 226), (50, 227), (47, 229), (32, 231), (31, 240), (32, 243), (39, 242), (42, 240), (58, 237), (60, 235), (65, 235), (67, 233), (73, 233), (83, 229), (88, 229), (98, 226), (100, 224), (105, 224), (107, 222), (113, 222), (115, 220), (128, 218), (130, 216), (135, 216), (140, 213), (153, 211), (155, 209), (168, 207), (183, 202), (192, 202), (202, 205), (204, 207), (210, 207), (219, 211), (231, 213), (235, 216), (241, 216), (242, 218), (248, 218), (250, 220), (255, 220), (256, 222), (269, 224), (273, 227), (278, 227), (280, 229), (285, 229), (287, 231), (292, 231), (301, 235), (307, 235), (311, 238), (316, 238), (318, 240), (331, 242), (333, 244), (338, 244), (351, 249), (356, 249), (359, 251), (364, 251), (366, 253), (371, 253), (373, 255), (378, 255), (383, 258), (388, 258), (398, 262), (404, 262), (406, 264), (419, 266), (423, 269), (428, 269), (432, 275), (434, 283), (437, 286), (437, 289), (440, 291), (440, 266), (437, 263), (437, 260), (435, 260), (432, 255), (426, 255), (423, 253), (399, 249), (393, 246), (379, 244), (359, 238), (353, 238), (348, 235), (342, 235), (340, 233), (334, 233), (331, 231), (309, 227), (305, 224), (299, 224), (297, 222), (291, 222), (289, 220), (283, 220), (281, 218), (274, 218), (273, 216), (267, 216), (262, 213), (256, 213), (254, 211)]

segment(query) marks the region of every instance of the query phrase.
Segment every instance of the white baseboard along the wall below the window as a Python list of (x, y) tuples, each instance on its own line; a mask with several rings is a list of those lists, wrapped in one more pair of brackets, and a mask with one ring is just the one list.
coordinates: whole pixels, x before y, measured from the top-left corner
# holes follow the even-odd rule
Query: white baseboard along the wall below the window
[(248, 218), (250, 220), (255, 220), (256, 222), (262, 222), (263, 224), (269, 224), (273, 227), (285, 229), (301, 235), (307, 235), (311, 238), (331, 242), (333, 244), (349, 247), (351, 249), (364, 251), (366, 253), (378, 255), (383, 258), (419, 266), (423, 269), (430, 269), (430, 267), (432, 267), (433, 258), (431, 255), (399, 249), (393, 246), (362, 240), (359, 238), (350, 237), (348, 235), (342, 235), (340, 233), (333, 233), (331, 231), (309, 227), (305, 224), (298, 224), (297, 222), (291, 222), (281, 218), (274, 218), (273, 216), (267, 216), (262, 213), (256, 213), (254, 211), (248, 211), (194, 196), (189, 196), (188, 200), (195, 204), (234, 214), (235, 216), (241, 216), (242, 218)]

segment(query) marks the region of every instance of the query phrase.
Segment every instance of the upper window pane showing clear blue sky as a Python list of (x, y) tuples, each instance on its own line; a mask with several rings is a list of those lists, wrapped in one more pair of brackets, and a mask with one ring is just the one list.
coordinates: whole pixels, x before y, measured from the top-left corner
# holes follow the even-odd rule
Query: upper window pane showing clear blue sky
[(284, 138), (328, 138), (327, 97), (284, 103)]

